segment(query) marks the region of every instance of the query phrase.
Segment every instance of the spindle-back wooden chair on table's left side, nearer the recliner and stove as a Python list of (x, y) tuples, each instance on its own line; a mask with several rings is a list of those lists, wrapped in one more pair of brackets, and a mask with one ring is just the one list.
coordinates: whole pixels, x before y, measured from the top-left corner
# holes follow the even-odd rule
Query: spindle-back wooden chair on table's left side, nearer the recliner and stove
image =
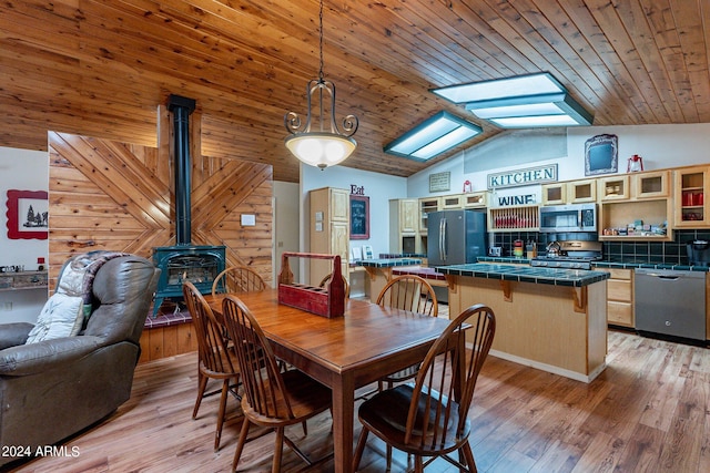
[(183, 282), (182, 291), (197, 339), (197, 400), (192, 410), (192, 419), (197, 417), (202, 399), (213, 394), (205, 394), (207, 381), (210, 379), (222, 380), (222, 389), (219, 391), (217, 430), (214, 434), (214, 451), (216, 452), (220, 450), (222, 425), (226, 415), (227, 393), (231, 392), (237, 400), (241, 399), (236, 392), (240, 379), (239, 364), (234, 351), (229, 348), (227, 340), (224, 338), (224, 326), (216, 320), (202, 294), (190, 281)]

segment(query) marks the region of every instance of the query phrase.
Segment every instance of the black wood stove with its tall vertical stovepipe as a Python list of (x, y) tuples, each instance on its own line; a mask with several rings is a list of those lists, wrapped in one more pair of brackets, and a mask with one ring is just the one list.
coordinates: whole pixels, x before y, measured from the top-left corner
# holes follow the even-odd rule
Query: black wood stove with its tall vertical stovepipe
[(173, 114), (175, 156), (175, 246), (153, 248), (153, 264), (162, 269), (153, 317), (165, 298), (182, 300), (182, 284), (195, 285), (202, 294), (212, 291), (212, 282), (225, 268), (224, 246), (192, 245), (191, 176), (190, 176), (190, 114), (195, 101), (171, 95), (168, 102)]

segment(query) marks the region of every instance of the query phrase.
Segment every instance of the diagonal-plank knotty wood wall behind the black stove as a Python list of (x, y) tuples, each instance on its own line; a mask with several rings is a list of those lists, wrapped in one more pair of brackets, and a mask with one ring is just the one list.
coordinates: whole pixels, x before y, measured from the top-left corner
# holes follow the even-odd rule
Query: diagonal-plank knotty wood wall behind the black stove
[[(164, 106), (156, 113), (158, 147), (49, 133), (52, 290), (61, 265), (74, 254), (111, 249), (151, 258), (153, 247), (174, 245), (171, 115)], [(203, 156), (201, 131), (201, 115), (193, 113), (192, 243), (225, 245), (227, 266), (250, 266), (271, 282), (272, 166)], [(242, 227), (242, 214), (255, 215), (256, 225)], [(144, 353), (154, 359), (194, 349), (190, 327), (153, 333)]]

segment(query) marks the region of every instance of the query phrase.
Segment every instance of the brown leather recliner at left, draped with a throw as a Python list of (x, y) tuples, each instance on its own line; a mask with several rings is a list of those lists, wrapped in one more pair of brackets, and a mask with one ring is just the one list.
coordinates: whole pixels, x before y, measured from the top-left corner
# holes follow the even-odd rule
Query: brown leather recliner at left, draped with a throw
[[(24, 345), (31, 323), (0, 325), (0, 465), (55, 444), (130, 398), (159, 275), (134, 255), (103, 263), (88, 288), (91, 316), (73, 337)], [(17, 448), (20, 456), (8, 455)]]

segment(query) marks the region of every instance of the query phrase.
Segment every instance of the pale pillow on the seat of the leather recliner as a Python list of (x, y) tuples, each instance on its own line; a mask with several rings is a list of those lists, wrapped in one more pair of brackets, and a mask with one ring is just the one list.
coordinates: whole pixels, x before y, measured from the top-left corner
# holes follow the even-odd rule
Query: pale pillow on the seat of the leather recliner
[(60, 337), (73, 337), (81, 330), (83, 321), (82, 298), (54, 292), (44, 304), (26, 345)]

